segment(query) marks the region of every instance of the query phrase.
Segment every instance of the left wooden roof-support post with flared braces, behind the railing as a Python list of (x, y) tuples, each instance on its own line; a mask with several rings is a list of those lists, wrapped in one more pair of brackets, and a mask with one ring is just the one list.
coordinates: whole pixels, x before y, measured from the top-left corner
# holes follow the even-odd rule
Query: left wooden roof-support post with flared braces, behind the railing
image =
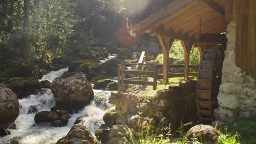
[(162, 53), (164, 54), (163, 81), (167, 84), (169, 79), (169, 51), (174, 39), (162, 37), (161, 35), (158, 35), (158, 39), (162, 47)]

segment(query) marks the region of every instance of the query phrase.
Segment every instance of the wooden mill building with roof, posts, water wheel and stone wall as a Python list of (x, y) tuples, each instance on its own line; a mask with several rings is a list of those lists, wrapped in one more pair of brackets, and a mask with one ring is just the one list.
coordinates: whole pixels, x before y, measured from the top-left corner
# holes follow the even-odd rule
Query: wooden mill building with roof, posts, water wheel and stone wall
[(199, 47), (199, 116), (219, 122), (256, 113), (255, 28), (255, 0), (173, 0), (136, 25), (136, 31), (159, 39), (164, 83), (170, 77), (168, 58), (173, 40), (182, 41), (185, 80), (191, 47)]

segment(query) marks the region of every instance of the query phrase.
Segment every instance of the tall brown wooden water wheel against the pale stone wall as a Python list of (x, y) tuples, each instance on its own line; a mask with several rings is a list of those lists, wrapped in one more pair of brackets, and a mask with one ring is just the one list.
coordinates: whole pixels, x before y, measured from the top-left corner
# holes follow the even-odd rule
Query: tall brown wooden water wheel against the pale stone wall
[(199, 121), (212, 122), (217, 108), (217, 95), (222, 78), (224, 46), (208, 46), (203, 52), (197, 80), (197, 110)]

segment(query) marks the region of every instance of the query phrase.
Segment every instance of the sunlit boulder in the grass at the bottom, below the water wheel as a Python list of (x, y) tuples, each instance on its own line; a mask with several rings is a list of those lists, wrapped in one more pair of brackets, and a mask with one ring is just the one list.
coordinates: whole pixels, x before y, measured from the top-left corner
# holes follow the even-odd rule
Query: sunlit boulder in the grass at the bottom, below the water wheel
[(192, 127), (188, 134), (186, 135), (186, 140), (188, 143), (193, 143), (193, 141), (199, 141), (201, 143), (218, 143), (218, 136), (220, 132), (214, 129), (210, 125), (195, 125)]

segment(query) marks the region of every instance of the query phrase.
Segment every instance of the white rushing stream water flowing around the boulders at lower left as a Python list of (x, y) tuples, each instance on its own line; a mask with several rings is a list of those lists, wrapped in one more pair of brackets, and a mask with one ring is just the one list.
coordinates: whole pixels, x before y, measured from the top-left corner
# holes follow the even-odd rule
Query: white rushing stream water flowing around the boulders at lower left
[[(63, 75), (67, 70), (68, 68), (51, 71), (44, 75), (42, 80), (53, 81), (56, 77)], [(38, 112), (50, 111), (51, 107), (55, 105), (53, 93), (51, 93), (50, 89), (42, 89), (42, 91), (37, 94), (32, 94), (24, 99), (20, 99), (20, 114), (14, 122), (16, 129), (9, 129), (11, 135), (0, 137), (0, 144), (5, 144), (5, 142), (8, 142), (9, 139), (15, 136), (22, 138), (20, 141), (22, 144), (56, 143), (57, 140), (68, 133), (75, 119), (79, 116), (85, 116), (83, 124), (94, 134), (97, 128), (104, 123), (102, 119), (104, 113), (113, 107), (113, 105), (108, 104), (110, 93), (109, 91), (94, 89), (95, 98), (91, 104), (85, 106), (79, 113), (72, 114), (67, 126), (61, 128), (51, 127), (46, 124), (36, 125), (34, 124), (36, 112), (27, 114), (31, 106), (36, 106)]]

